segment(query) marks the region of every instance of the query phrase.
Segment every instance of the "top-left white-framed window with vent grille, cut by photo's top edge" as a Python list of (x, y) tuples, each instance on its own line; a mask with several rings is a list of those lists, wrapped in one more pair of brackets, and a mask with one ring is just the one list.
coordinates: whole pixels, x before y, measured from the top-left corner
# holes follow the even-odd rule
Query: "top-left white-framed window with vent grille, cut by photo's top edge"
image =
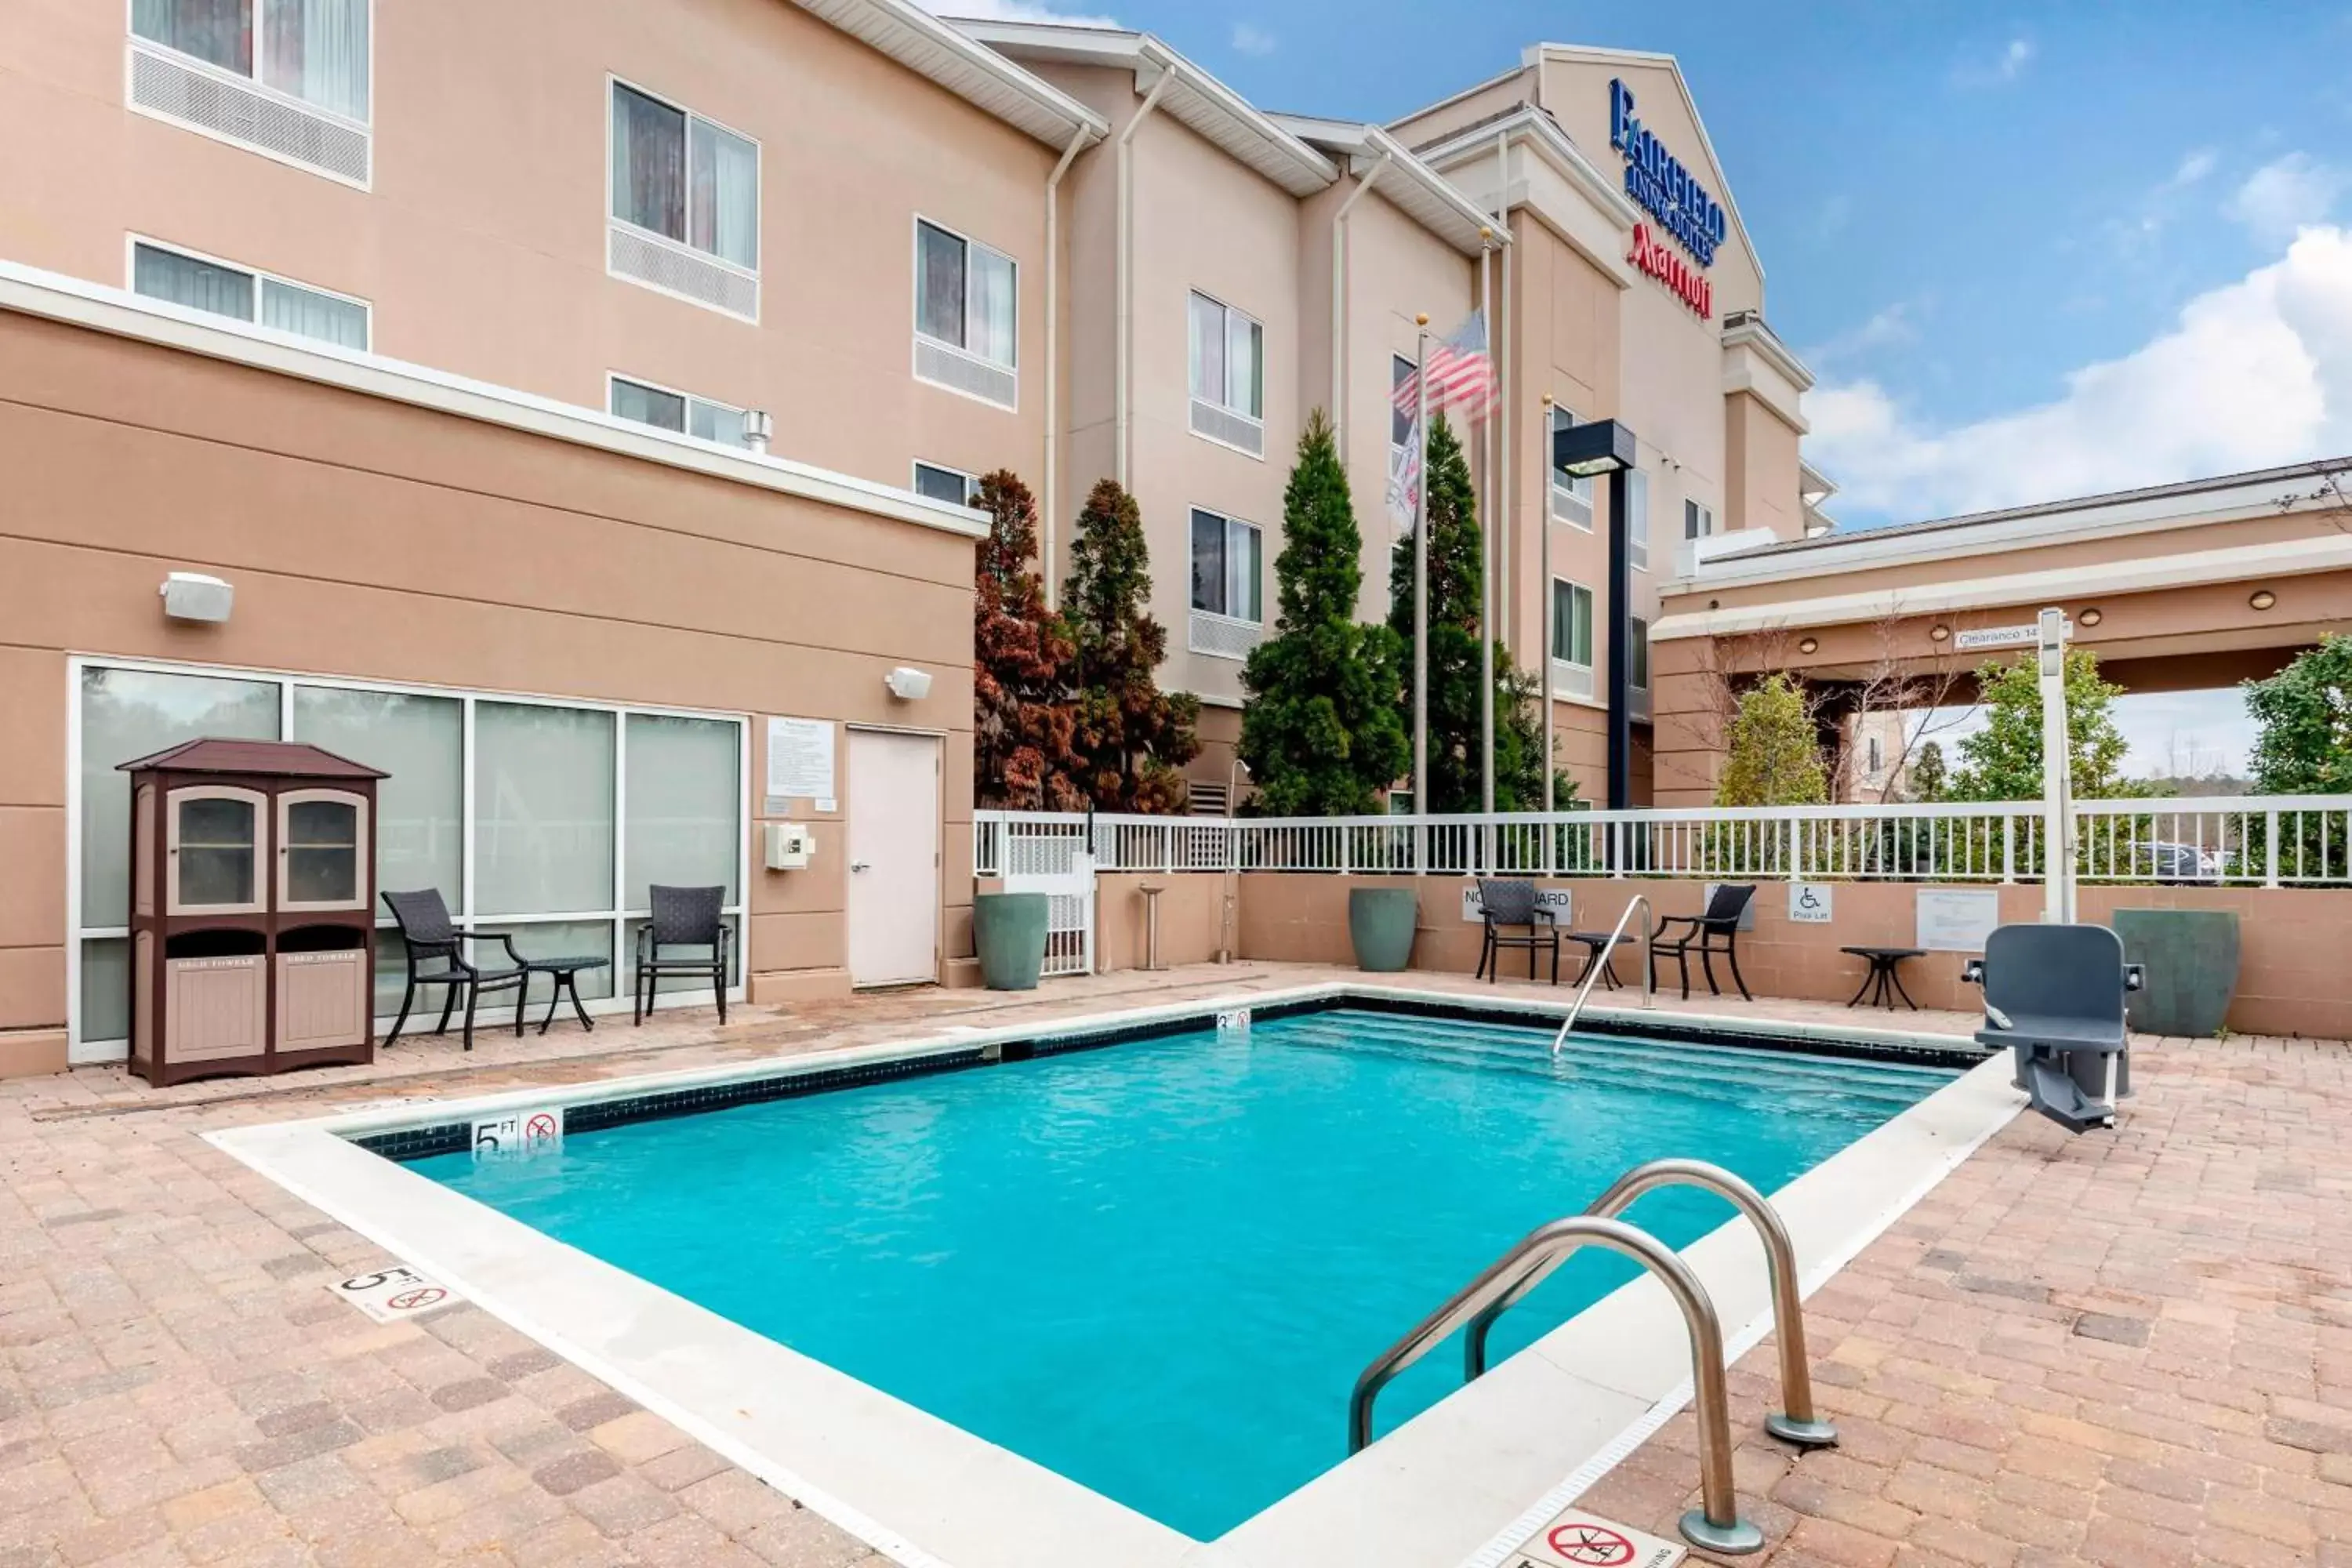
[(369, 0), (132, 0), (129, 103), (369, 181)]

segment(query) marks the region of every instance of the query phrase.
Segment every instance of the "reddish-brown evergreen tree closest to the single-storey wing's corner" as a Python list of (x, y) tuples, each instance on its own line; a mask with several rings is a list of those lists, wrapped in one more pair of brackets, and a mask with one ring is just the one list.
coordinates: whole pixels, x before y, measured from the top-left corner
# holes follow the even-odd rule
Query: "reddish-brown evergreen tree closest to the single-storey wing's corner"
[(971, 597), (971, 783), (983, 806), (1077, 811), (1070, 632), (1044, 607), (1037, 501), (1014, 473), (981, 480), (988, 512)]

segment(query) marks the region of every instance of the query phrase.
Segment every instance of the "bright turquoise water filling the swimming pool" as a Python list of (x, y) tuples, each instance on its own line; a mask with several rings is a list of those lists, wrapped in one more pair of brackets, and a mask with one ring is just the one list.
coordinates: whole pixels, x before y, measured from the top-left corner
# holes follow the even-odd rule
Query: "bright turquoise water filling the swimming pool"
[[(1771, 1192), (1955, 1077), (1548, 1046), (1341, 1009), (414, 1168), (1207, 1540), (1345, 1458), (1364, 1363), (1628, 1166), (1698, 1154)], [(1672, 1246), (1729, 1215), (1632, 1208)], [(1573, 1260), (1496, 1359), (1628, 1276)], [(1381, 1429), (1458, 1380), (1439, 1347)]]

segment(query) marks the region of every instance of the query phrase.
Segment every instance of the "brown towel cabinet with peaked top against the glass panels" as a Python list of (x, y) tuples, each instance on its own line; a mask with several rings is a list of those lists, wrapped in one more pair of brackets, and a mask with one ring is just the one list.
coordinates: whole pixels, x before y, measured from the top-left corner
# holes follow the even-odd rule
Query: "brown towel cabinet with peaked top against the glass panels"
[(188, 741), (132, 776), (132, 1072), (374, 1060), (376, 780), (292, 741)]

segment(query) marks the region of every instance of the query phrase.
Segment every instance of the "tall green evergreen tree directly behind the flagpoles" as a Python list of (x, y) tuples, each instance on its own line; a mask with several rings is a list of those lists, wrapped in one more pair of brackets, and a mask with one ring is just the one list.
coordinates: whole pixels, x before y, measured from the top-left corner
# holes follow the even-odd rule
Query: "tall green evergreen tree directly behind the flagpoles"
[[(1416, 811), (1479, 809), (1479, 524), (1470, 461), (1444, 414), (1430, 421), (1425, 473), (1430, 510), (1430, 785)], [(1414, 745), (1414, 541), (1388, 564), (1388, 628), (1399, 639), (1397, 686), (1404, 755)], [(1543, 722), (1538, 682), (1522, 675), (1501, 642), (1494, 649), (1494, 809), (1543, 806)], [(1573, 795), (1564, 785), (1559, 799)]]

